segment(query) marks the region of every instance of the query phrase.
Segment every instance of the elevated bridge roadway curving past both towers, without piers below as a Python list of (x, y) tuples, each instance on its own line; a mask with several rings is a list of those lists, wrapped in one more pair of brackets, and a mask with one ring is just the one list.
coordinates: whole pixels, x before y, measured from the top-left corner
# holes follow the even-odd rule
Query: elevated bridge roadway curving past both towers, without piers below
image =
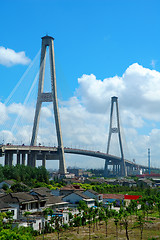
[[(120, 164), (121, 158), (110, 155), (107, 153), (103, 153), (100, 151), (91, 151), (84, 149), (76, 149), (76, 148), (64, 148), (64, 152), (68, 154), (77, 154), (90, 156), (95, 158), (101, 158), (104, 160), (108, 160), (108, 165)], [(45, 160), (59, 160), (58, 156), (58, 148), (57, 147), (46, 147), (46, 146), (26, 146), (26, 145), (0, 145), (0, 157), (5, 156), (6, 154), (36, 154), (37, 160), (42, 160), (45, 155)], [(139, 169), (148, 169), (147, 166), (137, 164), (128, 160), (125, 160), (127, 167), (134, 167)], [(158, 169), (158, 168), (151, 168)]]

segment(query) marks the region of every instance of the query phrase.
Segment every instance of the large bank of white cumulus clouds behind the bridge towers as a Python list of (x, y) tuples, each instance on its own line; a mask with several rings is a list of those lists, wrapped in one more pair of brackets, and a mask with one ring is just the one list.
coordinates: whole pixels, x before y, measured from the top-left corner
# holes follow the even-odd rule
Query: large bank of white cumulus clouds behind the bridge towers
[[(125, 157), (129, 160), (134, 158), (137, 163), (147, 165), (147, 149), (151, 148), (151, 164), (158, 166), (160, 73), (134, 63), (122, 76), (97, 79), (94, 74), (84, 74), (78, 79), (78, 83), (75, 95), (60, 103), (64, 146), (106, 152), (111, 97), (117, 96)], [(2, 122), (11, 115), (21, 115), (27, 124), (23, 127), (18, 125), (15, 139), (21, 138), (26, 143), (29, 142), (34, 109), (14, 103), (7, 108), (0, 105), (0, 111), (5, 116)], [(118, 140), (113, 140), (114, 148), (111, 150), (119, 154)], [(41, 111), (37, 142), (54, 145), (56, 141), (53, 106), (48, 104)], [(94, 158), (85, 161), (84, 157), (77, 158), (74, 155), (67, 155), (66, 158), (67, 165), (75, 165), (76, 161), (79, 167), (87, 167), (90, 164), (95, 167), (104, 166), (104, 161)]]

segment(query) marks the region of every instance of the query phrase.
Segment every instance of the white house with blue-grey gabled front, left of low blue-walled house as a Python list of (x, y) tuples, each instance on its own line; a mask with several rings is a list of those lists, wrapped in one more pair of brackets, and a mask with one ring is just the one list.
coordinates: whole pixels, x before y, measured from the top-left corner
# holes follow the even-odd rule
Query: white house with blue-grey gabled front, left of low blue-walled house
[(62, 200), (65, 202), (69, 202), (71, 204), (69, 205), (70, 207), (74, 207), (74, 206), (76, 207), (79, 201), (84, 201), (88, 207), (95, 206), (95, 199), (90, 198), (78, 191), (65, 195), (64, 197), (62, 197)]

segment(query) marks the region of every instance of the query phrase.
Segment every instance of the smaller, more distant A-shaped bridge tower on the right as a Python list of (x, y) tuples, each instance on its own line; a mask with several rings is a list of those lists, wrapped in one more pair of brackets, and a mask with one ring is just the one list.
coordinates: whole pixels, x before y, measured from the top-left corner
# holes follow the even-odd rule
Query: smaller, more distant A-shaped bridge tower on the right
[[(116, 114), (116, 126), (113, 126), (113, 113), (115, 109)], [(109, 127), (109, 135), (108, 135), (108, 144), (107, 144), (107, 154), (109, 154), (110, 150), (110, 143), (112, 134), (118, 134), (119, 139), (119, 147), (120, 147), (120, 154), (121, 154), (121, 163), (117, 164), (117, 162), (113, 162), (113, 173), (114, 175), (120, 174), (121, 176), (127, 175), (125, 160), (124, 160), (124, 153), (123, 153), (123, 146), (122, 146), (122, 138), (121, 138), (121, 131), (120, 131), (120, 121), (119, 121), (119, 108), (118, 108), (118, 97), (111, 98), (111, 112), (110, 112), (110, 127)], [(104, 175), (108, 175), (108, 165), (110, 165), (109, 160), (105, 161), (105, 169)], [(120, 167), (120, 169), (119, 169)]]

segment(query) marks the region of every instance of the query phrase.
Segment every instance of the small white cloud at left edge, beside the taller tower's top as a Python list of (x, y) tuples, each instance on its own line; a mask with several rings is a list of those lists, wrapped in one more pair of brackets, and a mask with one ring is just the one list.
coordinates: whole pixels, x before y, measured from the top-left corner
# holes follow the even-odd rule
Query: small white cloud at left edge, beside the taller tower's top
[(17, 64), (27, 65), (30, 61), (24, 51), (15, 52), (13, 49), (0, 46), (0, 64), (11, 67)]

